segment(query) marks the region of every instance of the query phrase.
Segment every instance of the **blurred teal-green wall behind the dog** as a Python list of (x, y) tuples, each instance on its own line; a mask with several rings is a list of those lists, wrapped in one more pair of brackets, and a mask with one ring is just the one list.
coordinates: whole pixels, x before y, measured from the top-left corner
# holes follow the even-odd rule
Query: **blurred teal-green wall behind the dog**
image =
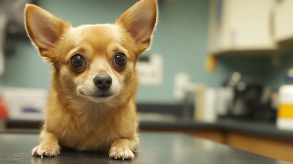
[[(38, 5), (73, 26), (113, 23), (137, 0), (38, 0)], [(146, 54), (164, 58), (164, 82), (160, 87), (141, 86), (137, 102), (180, 103), (172, 96), (174, 75), (187, 72), (192, 82), (219, 86), (232, 71), (240, 71), (248, 82), (265, 83), (269, 68), (265, 58), (220, 57), (217, 70), (206, 73), (209, 0), (160, 0), (159, 24), (152, 47)], [(25, 37), (10, 38), (15, 52), (6, 55), (0, 86), (48, 88), (51, 68), (42, 62)]]

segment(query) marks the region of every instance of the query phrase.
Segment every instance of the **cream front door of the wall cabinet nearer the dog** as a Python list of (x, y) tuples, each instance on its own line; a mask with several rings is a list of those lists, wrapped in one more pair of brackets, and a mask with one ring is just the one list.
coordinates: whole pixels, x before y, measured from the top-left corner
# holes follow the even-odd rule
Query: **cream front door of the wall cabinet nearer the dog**
[(230, 46), (243, 49), (272, 48), (273, 0), (230, 0)]

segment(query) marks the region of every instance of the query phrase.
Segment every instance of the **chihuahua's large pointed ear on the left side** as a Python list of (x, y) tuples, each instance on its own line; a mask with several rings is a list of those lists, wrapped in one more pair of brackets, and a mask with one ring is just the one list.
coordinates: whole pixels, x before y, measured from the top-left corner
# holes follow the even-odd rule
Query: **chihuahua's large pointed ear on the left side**
[(25, 5), (25, 29), (37, 46), (40, 55), (46, 58), (53, 58), (49, 51), (56, 46), (63, 33), (69, 29), (70, 23), (63, 22), (42, 8), (33, 5)]

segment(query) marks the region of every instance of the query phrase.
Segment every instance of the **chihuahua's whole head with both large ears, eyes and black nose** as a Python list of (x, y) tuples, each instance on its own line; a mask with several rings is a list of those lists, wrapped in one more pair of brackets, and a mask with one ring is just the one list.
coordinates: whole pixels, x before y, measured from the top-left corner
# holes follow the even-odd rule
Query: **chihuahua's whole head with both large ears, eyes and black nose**
[(53, 65), (53, 85), (93, 102), (134, 94), (135, 64), (150, 46), (156, 22), (156, 0), (137, 2), (115, 24), (75, 28), (38, 6), (25, 7), (27, 34)]

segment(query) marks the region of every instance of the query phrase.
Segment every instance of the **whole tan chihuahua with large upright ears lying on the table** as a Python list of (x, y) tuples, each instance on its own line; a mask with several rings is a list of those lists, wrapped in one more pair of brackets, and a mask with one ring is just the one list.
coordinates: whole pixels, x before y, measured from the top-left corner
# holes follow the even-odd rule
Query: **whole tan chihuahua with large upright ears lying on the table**
[(138, 1), (115, 24), (73, 28), (32, 4), (24, 17), (32, 44), (53, 67), (40, 144), (32, 155), (57, 156), (69, 147), (133, 159), (139, 145), (135, 66), (151, 44), (157, 1)]

